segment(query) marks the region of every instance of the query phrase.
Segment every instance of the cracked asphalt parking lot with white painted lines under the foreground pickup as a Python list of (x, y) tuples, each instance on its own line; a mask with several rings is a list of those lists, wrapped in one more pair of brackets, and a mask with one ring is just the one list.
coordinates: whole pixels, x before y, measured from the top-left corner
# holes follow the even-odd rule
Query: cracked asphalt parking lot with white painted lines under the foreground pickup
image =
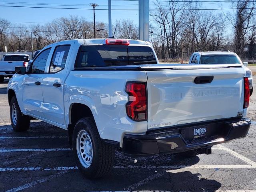
[(187, 159), (177, 154), (135, 159), (116, 152), (112, 173), (88, 180), (76, 168), (65, 130), (38, 120), (27, 132), (12, 130), (7, 83), (0, 84), (0, 191), (256, 192), (256, 91), (246, 138)]

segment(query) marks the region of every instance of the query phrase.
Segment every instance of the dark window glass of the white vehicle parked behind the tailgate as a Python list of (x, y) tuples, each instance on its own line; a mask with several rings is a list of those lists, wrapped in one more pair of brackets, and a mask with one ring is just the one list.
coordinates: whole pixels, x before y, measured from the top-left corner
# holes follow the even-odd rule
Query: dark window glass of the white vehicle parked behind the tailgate
[(201, 64), (241, 64), (236, 55), (202, 55)]

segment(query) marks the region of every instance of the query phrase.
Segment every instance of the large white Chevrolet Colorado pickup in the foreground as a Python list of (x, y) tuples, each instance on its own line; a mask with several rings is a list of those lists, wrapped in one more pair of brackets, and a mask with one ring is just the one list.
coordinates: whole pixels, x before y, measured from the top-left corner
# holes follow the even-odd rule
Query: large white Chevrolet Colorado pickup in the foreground
[(68, 40), (46, 46), (8, 84), (14, 131), (31, 118), (68, 130), (78, 168), (106, 175), (127, 156), (210, 154), (245, 137), (249, 83), (242, 64), (158, 64), (149, 42)]

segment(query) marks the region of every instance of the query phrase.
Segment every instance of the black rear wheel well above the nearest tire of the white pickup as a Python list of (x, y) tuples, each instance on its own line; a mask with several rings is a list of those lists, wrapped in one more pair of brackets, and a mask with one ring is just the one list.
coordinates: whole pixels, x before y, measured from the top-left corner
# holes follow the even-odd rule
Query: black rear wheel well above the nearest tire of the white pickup
[(70, 109), (70, 124), (68, 125), (68, 140), (69, 144), (72, 145), (73, 130), (76, 122), (81, 118), (93, 117), (90, 108), (84, 104), (74, 103)]

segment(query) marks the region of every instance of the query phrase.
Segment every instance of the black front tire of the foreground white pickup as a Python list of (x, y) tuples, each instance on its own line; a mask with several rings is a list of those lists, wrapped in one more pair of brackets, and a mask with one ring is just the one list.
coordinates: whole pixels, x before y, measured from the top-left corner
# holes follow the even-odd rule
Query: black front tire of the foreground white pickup
[[(12, 114), (14, 107), (16, 108), (15, 115)], [(12, 128), (14, 131), (21, 132), (28, 130), (30, 126), (30, 116), (22, 114), (16, 96), (12, 97), (10, 102), (10, 118), (12, 122)]]

